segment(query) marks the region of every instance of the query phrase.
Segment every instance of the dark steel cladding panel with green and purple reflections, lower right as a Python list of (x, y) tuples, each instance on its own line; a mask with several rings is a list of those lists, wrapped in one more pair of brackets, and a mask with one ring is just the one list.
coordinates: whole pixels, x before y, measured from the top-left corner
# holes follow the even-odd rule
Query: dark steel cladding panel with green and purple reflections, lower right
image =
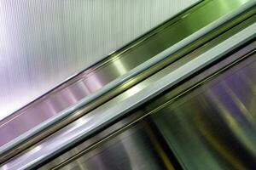
[(255, 169), (256, 55), (153, 116), (190, 169)]

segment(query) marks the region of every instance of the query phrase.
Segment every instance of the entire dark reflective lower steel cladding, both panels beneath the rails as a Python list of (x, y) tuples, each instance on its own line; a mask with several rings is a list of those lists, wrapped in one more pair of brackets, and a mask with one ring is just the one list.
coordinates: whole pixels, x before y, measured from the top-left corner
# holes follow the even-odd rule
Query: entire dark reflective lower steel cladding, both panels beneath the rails
[[(256, 43), (250, 46), (255, 49)], [(102, 144), (96, 144), (84, 155), (74, 154), (77, 158), (52, 167), (255, 169), (255, 73), (254, 50), (247, 59), (203, 82), (199, 88), (169, 100), (166, 106), (160, 106), (160, 110), (143, 121), (135, 122)], [(173, 92), (162, 97), (170, 94)], [(226, 112), (226, 109), (231, 111)]]

